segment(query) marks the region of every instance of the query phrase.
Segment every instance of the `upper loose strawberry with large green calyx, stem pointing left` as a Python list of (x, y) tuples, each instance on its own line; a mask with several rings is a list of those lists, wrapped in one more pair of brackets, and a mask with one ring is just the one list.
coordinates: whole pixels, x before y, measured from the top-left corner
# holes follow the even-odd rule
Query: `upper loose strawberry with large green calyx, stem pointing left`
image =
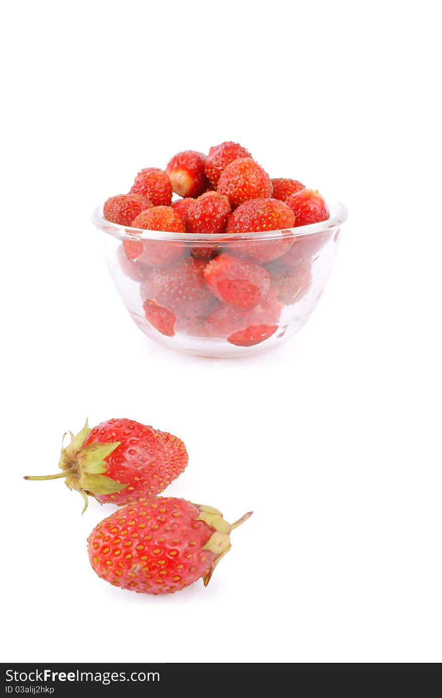
[(61, 448), (61, 473), (24, 479), (64, 477), (69, 489), (82, 494), (83, 511), (88, 495), (101, 503), (127, 504), (162, 492), (183, 472), (186, 447), (175, 439), (133, 419), (108, 419), (94, 429), (86, 421), (76, 436), (71, 433), (71, 443)]

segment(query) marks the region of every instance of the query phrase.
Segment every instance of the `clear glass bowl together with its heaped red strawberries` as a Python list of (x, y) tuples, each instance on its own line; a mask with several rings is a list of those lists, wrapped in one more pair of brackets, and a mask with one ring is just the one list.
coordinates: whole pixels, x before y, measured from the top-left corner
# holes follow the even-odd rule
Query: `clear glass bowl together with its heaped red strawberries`
[(293, 174), (272, 178), (254, 153), (224, 141), (143, 168), (127, 194), (94, 211), (119, 295), (149, 339), (234, 358), (305, 325), (347, 211)]

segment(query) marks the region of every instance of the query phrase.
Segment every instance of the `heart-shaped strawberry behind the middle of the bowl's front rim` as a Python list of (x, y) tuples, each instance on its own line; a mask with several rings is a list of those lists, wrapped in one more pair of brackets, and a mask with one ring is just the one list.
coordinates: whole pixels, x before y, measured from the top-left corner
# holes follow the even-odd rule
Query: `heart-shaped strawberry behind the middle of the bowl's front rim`
[[(187, 209), (187, 232), (211, 235), (226, 230), (230, 216), (230, 202), (226, 196), (217, 191), (207, 191), (200, 198), (193, 200), (193, 205)], [(198, 259), (209, 259), (217, 252), (217, 248), (197, 246), (192, 254)]]

